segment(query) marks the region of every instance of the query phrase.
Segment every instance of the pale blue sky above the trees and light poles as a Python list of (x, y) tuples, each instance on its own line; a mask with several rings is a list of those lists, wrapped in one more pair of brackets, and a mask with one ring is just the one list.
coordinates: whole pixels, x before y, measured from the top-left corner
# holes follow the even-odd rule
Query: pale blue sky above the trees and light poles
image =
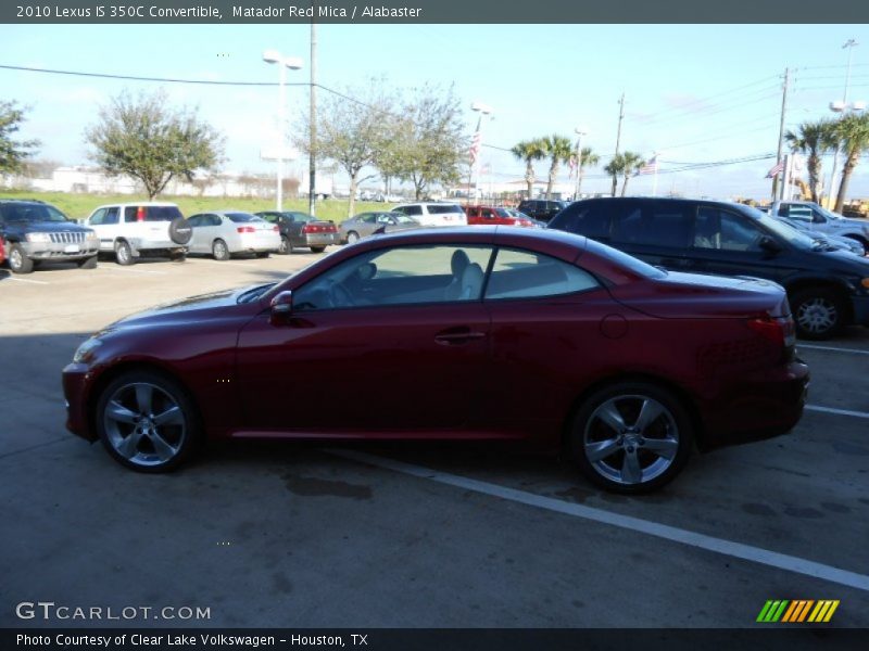
[[(424, 82), (454, 87), (467, 108), (467, 130), (482, 101), (495, 118), (483, 131), (483, 162), (498, 181), (519, 179), (524, 164), (492, 148), (585, 127), (583, 145), (604, 157), (615, 151), (618, 99), (625, 93), (620, 149), (660, 152), (658, 191), (716, 197), (769, 194), (764, 179), (774, 161), (667, 174), (690, 164), (774, 154), (785, 67), (792, 71), (786, 126), (831, 116), (842, 100), (852, 50), (848, 100), (869, 99), (869, 39), (865, 25), (319, 25), (318, 82), (363, 88), (382, 77), (398, 89)], [(277, 81), (262, 52), (299, 55), (304, 68), (288, 81), (308, 80), (306, 25), (0, 25), (0, 64), (210, 81)], [(29, 106), (22, 136), (38, 138), (39, 157), (87, 164), (83, 141), (98, 106), (124, 89), (164, 88), (176, 105), (198, 106), (226, 136), (226, 169), (269, 171), (261, 148), (274, 143), (274, 86), (209, 86), (48, 75), (0, 68), (3, 97)], [(325, 93), (325, 91), (320, 91)], [(290, 111), (307, 105), (307, 89), (288, 89)], [(824, 164), (829, 175), (831, 158)], [(299, 165), (301, 167), (301, 165)], [(842, 167), (842, 158), (839, 168)], [(544, 177), (545, 164), (538, 165)], [(596, 177), (596, 178), (595, 178)], [(608, 180), (592, 169), (584, 191)], [(566, 180), (566, 170), (562, 175)], [(631, 181), (637, 193), (652, 180)], [(630, 189), (630, 187), (629, 187)], [(869, 195), (869, 158), (852, 181)]]

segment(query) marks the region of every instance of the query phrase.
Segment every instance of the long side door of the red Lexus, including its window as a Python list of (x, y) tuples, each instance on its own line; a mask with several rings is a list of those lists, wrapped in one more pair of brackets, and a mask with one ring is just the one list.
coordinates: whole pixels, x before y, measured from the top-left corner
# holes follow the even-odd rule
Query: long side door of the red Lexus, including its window
[[(451, 299), (459, 248), (461, 272), (476, 273), (478, 285)], [(461, 436), (479, 407), (488, 356), (480, 269), (490, 255), (490, 246), (365, 251), (294, 289), (291, 318), (276, 324), (264, 312), (239, 336), (250, 427)]]

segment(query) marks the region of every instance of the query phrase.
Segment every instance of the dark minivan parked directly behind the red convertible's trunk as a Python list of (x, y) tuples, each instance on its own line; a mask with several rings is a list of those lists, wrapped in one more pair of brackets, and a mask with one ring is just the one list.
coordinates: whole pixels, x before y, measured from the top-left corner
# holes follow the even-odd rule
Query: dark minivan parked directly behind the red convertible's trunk
[(549, 228), (587, 235), (677, 271), (754, 276), (784, 286), (804, 339), (869, 326), (869, 259), (816, 242), (742, 204), (682, 199), (591, 199)]

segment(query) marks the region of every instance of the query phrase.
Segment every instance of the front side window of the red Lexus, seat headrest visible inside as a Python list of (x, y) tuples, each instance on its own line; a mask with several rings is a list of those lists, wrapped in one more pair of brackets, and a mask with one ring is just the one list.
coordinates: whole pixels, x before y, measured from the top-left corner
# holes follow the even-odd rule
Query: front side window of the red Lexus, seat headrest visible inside
[(293, 310), (479, 301), (491, 246), (395, 246), (367, 251), (294, 292)]

